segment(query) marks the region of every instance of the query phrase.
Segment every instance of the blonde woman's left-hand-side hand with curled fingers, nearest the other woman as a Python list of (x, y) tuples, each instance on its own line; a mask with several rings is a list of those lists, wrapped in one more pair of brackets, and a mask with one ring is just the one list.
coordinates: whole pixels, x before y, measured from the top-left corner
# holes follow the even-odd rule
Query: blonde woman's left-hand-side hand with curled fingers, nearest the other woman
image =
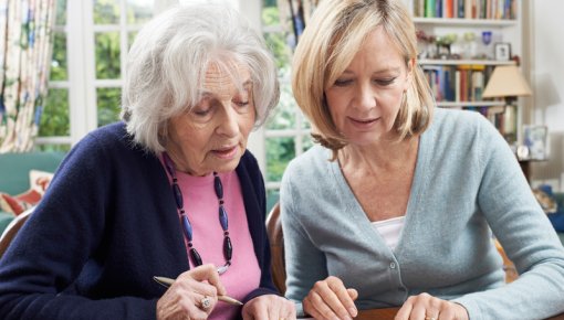
[(327, 277), (315, 282), (303, 299), (303, 310), (315, 319), (353, 319), (358, 311), (354, 300), (355, 289), (347, 289), (337, 277)]

